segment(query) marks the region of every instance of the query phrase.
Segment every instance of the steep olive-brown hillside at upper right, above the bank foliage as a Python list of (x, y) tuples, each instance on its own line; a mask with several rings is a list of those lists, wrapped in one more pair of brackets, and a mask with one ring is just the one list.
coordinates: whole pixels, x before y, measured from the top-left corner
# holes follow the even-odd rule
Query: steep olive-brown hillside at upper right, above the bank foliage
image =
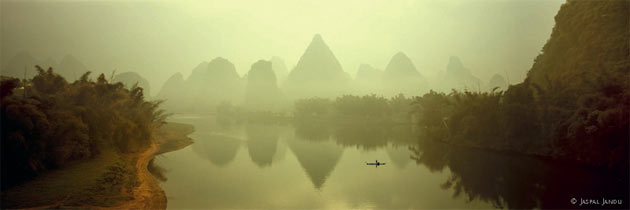
[(545, 89), (562, 85), (587, 91), (603, 73), (627, 76), (629, 4), (625, 0), (567, 1), (527, 80)]

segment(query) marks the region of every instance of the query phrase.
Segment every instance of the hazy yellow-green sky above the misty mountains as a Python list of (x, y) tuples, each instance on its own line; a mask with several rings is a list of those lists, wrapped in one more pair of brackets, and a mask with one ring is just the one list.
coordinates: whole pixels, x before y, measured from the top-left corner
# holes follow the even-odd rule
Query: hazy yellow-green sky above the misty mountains
[(564, 0), (0, 1), (2, 64), (17, 52), (58, 62), (72, 54), (95, 72), (136, 71), (153, 93), (221, 56), (241, 75), (259, 59), (289, 69), (319, 33), (344, 70), (384, 69), (405, 52), (431, 79), (451, 55), (482, 81), (522, 81)]

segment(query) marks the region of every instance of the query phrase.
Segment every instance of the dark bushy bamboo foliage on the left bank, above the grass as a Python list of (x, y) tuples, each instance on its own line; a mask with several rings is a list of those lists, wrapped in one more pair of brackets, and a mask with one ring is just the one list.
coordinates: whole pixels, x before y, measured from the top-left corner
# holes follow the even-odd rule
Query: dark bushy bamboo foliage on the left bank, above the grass
[(91, 81), (89, 72), (70, 84), (52, 68), (37, 70), (31, 80), (2, 79), (3, 188), (103, 149), (144, 149), (165, 118), (142, 88), (103, 74)]

